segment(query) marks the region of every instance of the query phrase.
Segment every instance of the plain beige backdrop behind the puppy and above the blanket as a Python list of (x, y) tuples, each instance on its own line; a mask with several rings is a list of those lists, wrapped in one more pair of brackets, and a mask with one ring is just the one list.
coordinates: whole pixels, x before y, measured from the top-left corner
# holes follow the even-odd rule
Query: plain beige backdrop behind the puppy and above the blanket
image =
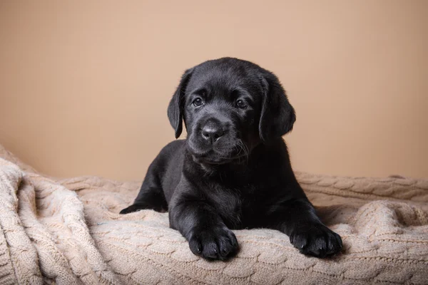
[(0, 1), (0, 143), (49, 175), (142, 179), (183, 70), (235, 56), (287, 89), (295, 170), (428, 177), (427, 53), (424, 0)]

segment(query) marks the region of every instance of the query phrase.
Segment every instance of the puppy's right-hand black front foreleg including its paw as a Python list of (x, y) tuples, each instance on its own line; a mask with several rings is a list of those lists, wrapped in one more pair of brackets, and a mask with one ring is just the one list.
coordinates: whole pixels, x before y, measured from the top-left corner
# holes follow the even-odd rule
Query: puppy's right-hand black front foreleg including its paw
[(329, 257), (342, 249), (342, 239), (322, 224), (315, 209), (305, 199), (281, 202), (270, 213), (273, 226), (290, 237), (290, 242), (302, 252), (313, 257)]

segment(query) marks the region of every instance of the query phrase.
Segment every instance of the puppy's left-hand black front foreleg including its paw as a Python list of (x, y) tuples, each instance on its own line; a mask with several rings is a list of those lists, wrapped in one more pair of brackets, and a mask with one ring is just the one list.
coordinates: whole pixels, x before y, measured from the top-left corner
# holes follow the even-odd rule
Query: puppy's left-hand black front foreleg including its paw
[(225, 260), (238, 252), (235, 234), (215, 208), (193, 195), (180, 195), (170, 207), (170, 226), (188, 240), (190, 250), (204, 259)]

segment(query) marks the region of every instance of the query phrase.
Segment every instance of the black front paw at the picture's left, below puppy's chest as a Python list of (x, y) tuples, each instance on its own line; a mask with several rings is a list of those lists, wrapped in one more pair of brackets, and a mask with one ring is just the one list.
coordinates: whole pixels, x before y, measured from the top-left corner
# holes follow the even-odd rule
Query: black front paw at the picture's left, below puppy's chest
[(195, 229), (190, 235), (189, 247), (193, 254), (204, 259), (225, 260), (238, 252), (238, 240), (227, 227)]

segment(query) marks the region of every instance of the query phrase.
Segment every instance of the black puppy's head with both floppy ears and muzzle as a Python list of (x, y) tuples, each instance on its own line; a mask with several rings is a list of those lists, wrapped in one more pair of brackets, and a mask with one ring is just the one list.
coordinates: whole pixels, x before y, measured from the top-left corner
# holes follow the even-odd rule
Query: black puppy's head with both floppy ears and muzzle
[(292, 130), (295, 111), (277, 77), (237, 58), (205, 61), (188, 69), (168, 106), (175, 138), (188, 132), (196, 162), (242, 161), (260, 142)]

